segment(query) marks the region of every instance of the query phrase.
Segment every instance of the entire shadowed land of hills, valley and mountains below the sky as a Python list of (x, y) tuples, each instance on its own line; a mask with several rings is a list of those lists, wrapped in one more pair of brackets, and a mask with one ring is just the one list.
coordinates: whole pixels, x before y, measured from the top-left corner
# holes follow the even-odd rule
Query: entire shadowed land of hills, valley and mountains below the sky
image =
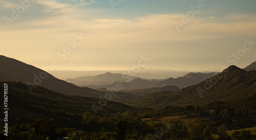
[[(1, 56), (0, 61), (2, 66), (9, 63), (1, 70), (0, 87), (8, 83), (10, 139), (256, 137), (255, 70), (232, 65), (220, 73), (187, 73), (178, 78), (143, 79), (107, 72), (68, 80), (99, 84), (91, 89), (17, 60)], [(42, 72), (46, 78), (34, 82), (38, 79), (33, 73)], [(32, 82), (38, 84), (28, 85)], [(19, 121), (13, 121), (17, 117)], [(0, 134), (3, 137), (3, 130)]]

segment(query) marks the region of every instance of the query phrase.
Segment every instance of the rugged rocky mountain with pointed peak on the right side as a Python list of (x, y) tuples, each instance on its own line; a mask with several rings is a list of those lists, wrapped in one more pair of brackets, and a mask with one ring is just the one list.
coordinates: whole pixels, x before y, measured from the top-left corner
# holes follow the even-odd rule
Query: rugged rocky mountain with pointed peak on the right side
[[(256, 103), (256, 71), (230, 66), (220, 74), (180, 91), (164, 91), (127, 102), (132, 106), (159, 108), (167, 105), (203, 105), (212, 101)], [(243, 102), (246, 105), (247, 102)], [(256, 106), (254, 106), (256, 107)]]

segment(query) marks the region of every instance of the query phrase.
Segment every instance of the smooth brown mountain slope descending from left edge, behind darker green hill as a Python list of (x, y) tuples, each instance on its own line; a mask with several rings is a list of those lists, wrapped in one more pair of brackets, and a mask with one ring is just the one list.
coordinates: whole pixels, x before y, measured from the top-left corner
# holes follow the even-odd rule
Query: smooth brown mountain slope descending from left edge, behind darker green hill
[[(25, 64), (15, 59), (7, 58), (0, 55), (0, 81), (23, 82), (28, 85), (37, 85), (49, 90), (56, 91), (67, 95), (78, 95), (86, 97), (104, 97), (105, 92), (99, 92), (86, 87), (78, 87), (72, 83), (55, 78), (53, 75), (34, 66)], [(28, 86), (33, 91), (36, 87)], [(117, 93), (113, 100), (134, 99), (138, 96)]]

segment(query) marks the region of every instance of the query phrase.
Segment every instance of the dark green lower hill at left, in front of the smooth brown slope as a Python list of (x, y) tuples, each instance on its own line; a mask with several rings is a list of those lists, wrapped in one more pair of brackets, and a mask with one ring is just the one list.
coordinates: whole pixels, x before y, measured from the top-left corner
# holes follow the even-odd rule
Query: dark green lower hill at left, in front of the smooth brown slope
[[(36, 119), (46, 116), (64, 119), (72, 115), (81, 116), (86, 111), (90, 111), (94, 114), (92, 104), (99, 105), (98, 98), (65, 95), (53, 92), (41, 86), (38, 86), (33, 92), (30, 92), (27, 85), (20, 82), (1, 81), (1, 91), (4, 91), (4, 83), (8, 84), (8, 108), (11, 110), (9, 120), (16, 120), (18, 115), (22, 122), (26, 123), (33, 123)], [(1, 102), (4, 102), (4, 98), (1, 98)], [(114, 101), (108, 101), (104, 106), (100, 107), (101, 109), (97, 109), (97, 115), (99, 116), (104, 114), (116, 114), (128, 109), (139, 110), (138, 108)], [(16, 123), (16, 121), (10, 122)], [(63, 122), (65, 122), (65, 120)]]

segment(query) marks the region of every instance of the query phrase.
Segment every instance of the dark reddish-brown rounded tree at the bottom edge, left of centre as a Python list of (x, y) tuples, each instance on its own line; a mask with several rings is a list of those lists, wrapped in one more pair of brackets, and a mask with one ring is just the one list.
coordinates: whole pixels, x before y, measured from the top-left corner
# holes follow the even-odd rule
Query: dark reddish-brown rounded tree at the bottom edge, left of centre
[(46, 139), (48, 136), (52, 139), (55, 138), (55, 128), (56, 126), (52, 124), (52, 120), (50, 117), (46, 117), (44, 119), (37, 119), (35, 123), (33, 123), (33, 133), (42, 139)]

